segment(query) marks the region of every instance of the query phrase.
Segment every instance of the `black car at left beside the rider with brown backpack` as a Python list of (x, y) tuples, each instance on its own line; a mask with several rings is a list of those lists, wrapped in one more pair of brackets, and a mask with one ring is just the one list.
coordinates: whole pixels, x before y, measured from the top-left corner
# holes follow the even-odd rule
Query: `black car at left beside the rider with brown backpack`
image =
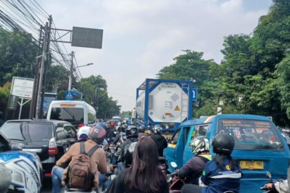
[(77, 141), (77, 131), (67, 121), (13, 120), (2, 125), (0, 132), (23, 151), (38, 154), (45, 177), (51, 176), (56, 161)]

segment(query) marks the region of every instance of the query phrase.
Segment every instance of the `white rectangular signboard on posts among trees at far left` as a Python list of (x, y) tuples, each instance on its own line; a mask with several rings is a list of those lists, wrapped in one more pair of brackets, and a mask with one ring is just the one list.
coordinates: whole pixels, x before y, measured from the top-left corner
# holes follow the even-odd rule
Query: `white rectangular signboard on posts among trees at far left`
[(32, 98), (33, 79), (13, 77), (11, 94), (25, 99)]

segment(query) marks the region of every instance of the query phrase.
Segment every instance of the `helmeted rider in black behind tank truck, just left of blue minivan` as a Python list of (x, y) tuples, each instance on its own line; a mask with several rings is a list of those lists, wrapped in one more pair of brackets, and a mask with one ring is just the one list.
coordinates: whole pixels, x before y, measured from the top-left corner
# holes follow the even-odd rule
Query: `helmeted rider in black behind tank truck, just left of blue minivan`
[(162, 136), (162, 128), (160, 125), (155, 125), (153, 128), (154, 134), (151, 135), (151, 139), (155, 142), (157, 145), (157, 152), (158, 156), (164, 156), (163, 155), (163, 150), (167, 148), (167, 140), (164, 136)]

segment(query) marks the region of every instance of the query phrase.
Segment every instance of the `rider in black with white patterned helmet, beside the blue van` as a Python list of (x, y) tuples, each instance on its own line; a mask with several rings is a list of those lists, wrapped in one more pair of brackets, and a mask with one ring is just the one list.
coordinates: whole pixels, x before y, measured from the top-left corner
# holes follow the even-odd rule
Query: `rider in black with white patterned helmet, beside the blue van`
[(209, 154), (209, 139), (205, 136), (198, 136), (191, 139), (189, 146), (193, 150), (193, 158), (190, 159), (180, 170), (177, 170), (177, 177), (184, 179), (186, 177), (186, 183), (192, 183), (198, 185), (202, 171), (208, 161), (211, 161), (211, 155)]

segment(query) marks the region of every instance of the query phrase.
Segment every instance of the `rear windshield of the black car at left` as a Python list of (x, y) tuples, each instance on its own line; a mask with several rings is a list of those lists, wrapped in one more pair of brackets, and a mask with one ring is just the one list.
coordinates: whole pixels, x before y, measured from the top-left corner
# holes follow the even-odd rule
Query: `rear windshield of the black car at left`
[(53, 125), (50, 123), (6, 123), (0, 132), (12, 141), (49, 141)]

